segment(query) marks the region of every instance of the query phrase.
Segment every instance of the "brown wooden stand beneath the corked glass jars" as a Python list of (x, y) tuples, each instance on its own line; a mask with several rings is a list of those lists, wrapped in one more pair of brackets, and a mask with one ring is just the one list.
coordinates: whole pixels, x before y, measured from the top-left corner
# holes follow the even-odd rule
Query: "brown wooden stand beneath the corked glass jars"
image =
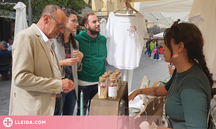
[(89, 115), (119, 115), (121, 100), (125, 101), (125, 115), (128, 115), (128, 82), (121, 81), (121, 88), (118, 91), (117, 98), (99, 99), (96, 94), (91, 99)]

